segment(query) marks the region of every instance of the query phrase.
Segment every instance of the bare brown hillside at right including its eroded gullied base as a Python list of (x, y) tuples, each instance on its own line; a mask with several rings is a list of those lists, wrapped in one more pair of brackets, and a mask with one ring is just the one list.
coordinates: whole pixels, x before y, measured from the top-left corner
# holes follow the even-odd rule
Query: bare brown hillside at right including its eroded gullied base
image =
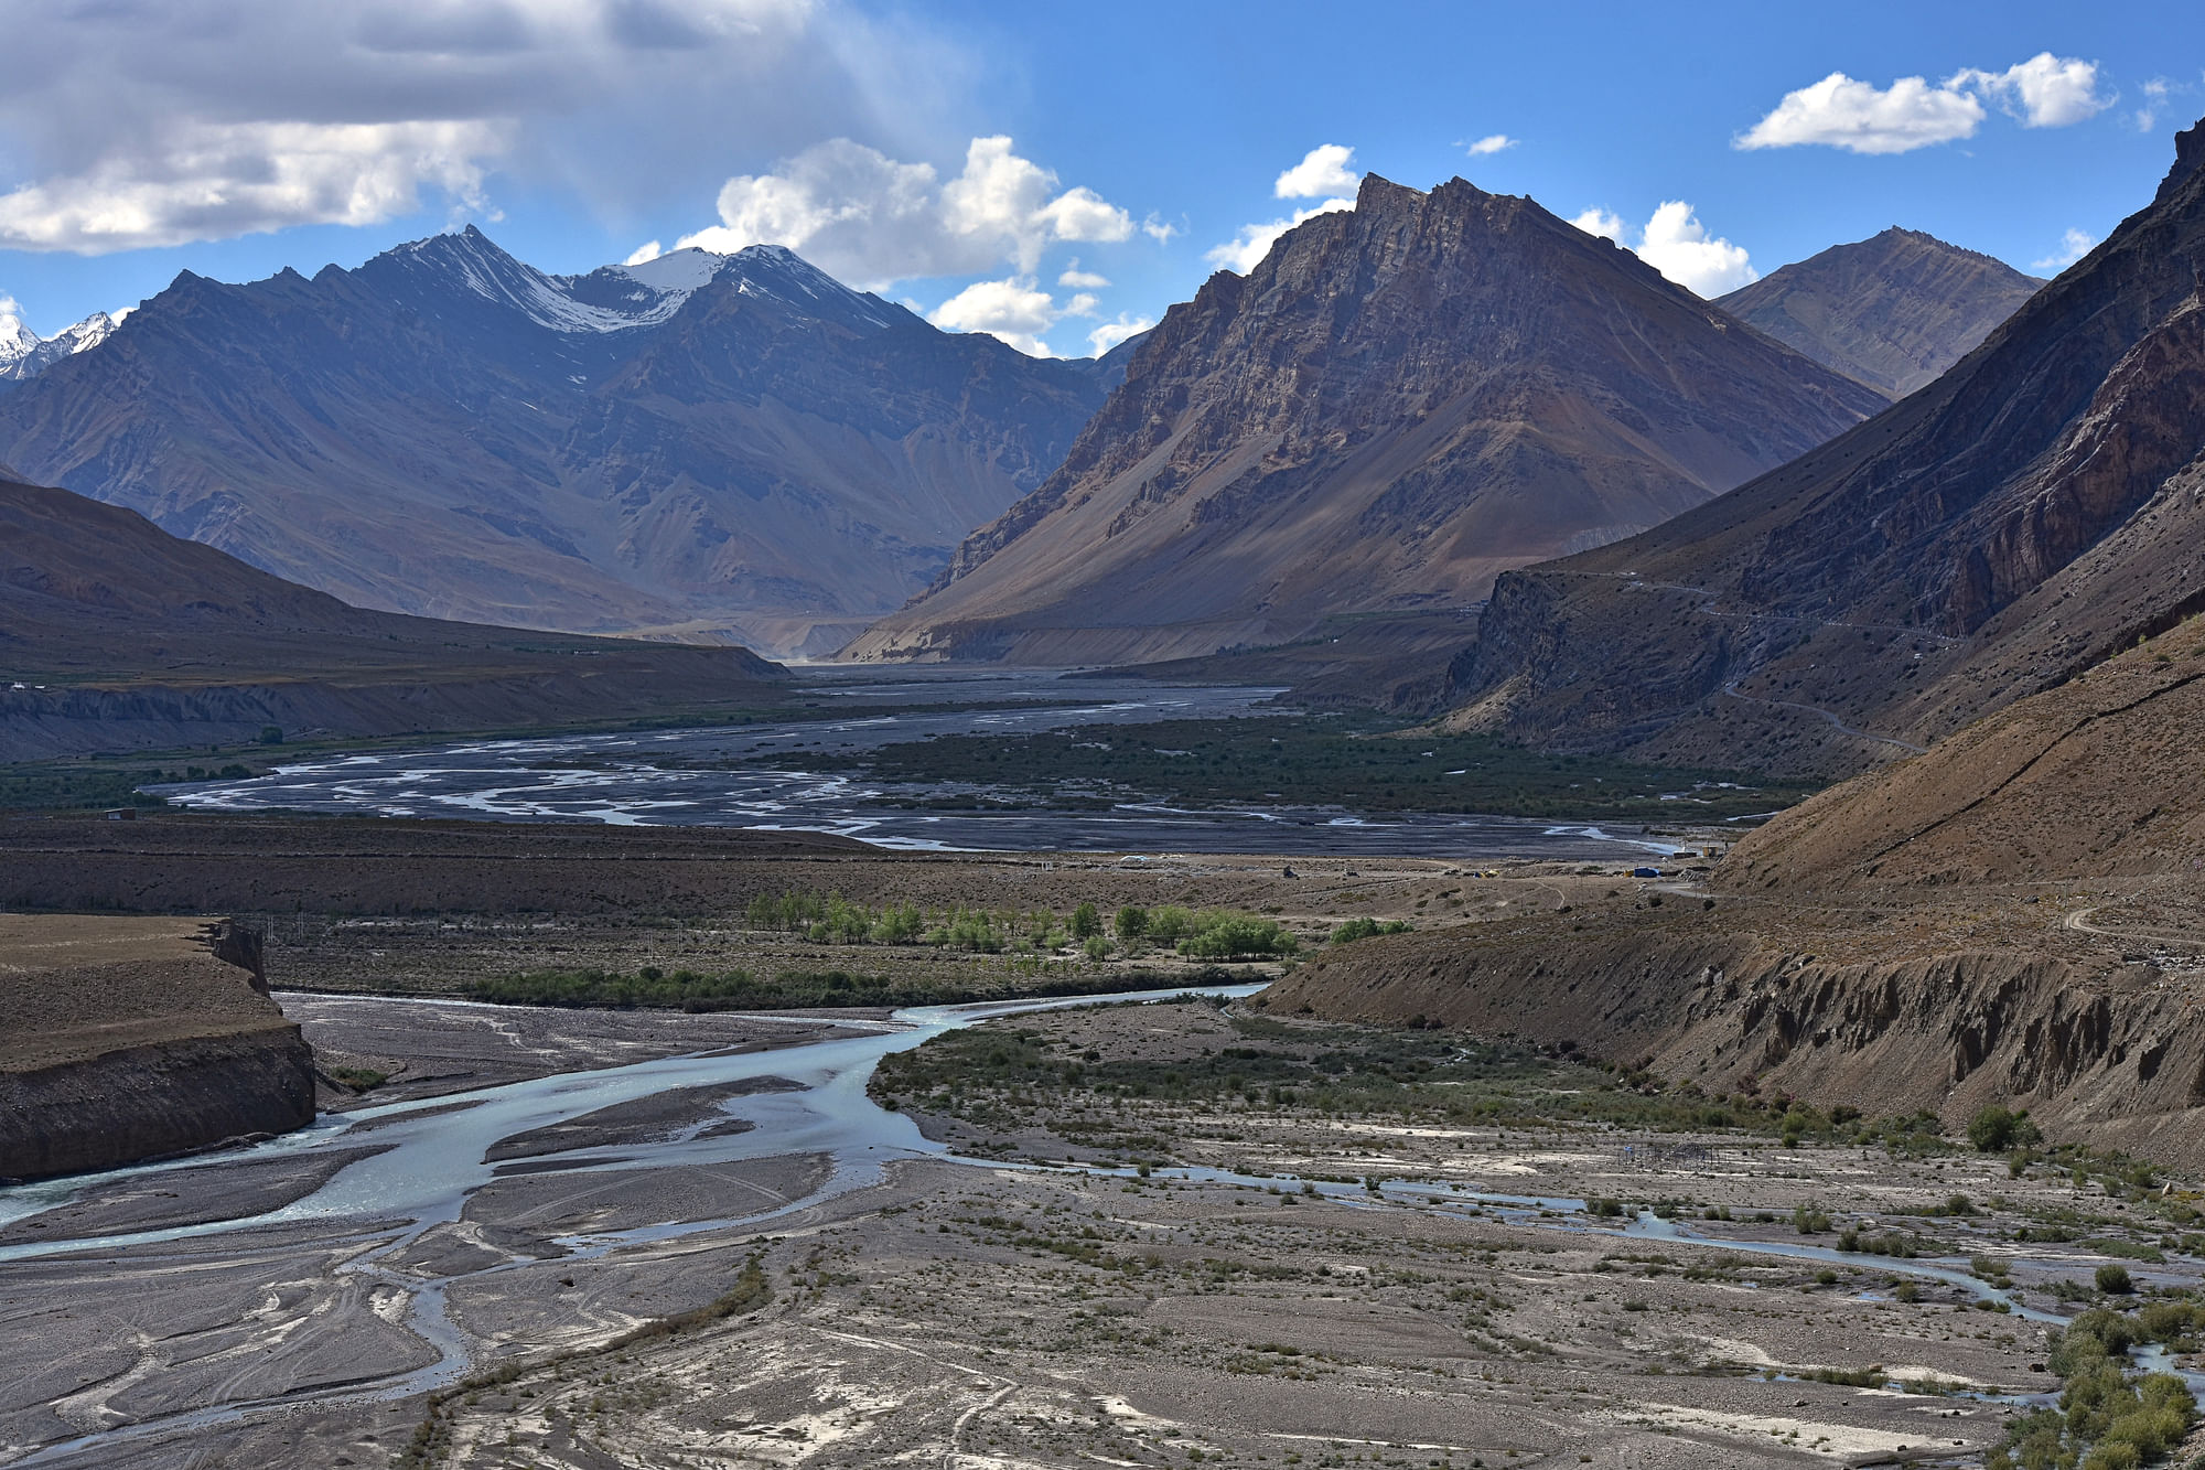
[(1786, 1090), (2205, 1165), (2205, 622), (1784, 812), (1711, 907), (1327, 951), (1272, 1004), (1577, 1044), (1711, 1093)]

